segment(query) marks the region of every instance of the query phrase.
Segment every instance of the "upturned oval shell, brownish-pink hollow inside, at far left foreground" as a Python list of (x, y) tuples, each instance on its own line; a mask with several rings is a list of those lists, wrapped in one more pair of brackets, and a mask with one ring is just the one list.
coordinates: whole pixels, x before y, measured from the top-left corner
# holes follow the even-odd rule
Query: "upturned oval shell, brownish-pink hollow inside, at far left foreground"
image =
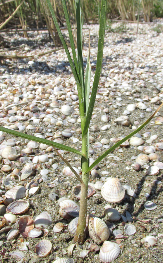
[(28, 200), (16, 200), (9, 204), (6, 208), (6, 211), (8, 213), (12, 214), (22, 214), (25, 213), (30, 206), (30, 203)]

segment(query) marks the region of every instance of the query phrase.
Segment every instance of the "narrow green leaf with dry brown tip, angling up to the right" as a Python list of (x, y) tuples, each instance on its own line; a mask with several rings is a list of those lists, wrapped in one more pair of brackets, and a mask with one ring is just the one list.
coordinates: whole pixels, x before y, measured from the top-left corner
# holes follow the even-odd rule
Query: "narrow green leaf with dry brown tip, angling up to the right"
[(111, 153), (113, 150), (115, 150), (118, 146), (120, 146), (124, 141), (128, 140), (129, 138), (131, 138), (134, 134), (136, 134), (138, 131), (140, 131), (141, 129), (143, 129), (149, 122), (150, 120), (152, 120), (152, 118), (155, 116), (155, 114), (159, 111), (159, 109), (162, 107), (163, 103), (157, 108), (157, 110), (152, 114), (152, 116), (146, 120), (146, 122), (144, 122), (138, 129), (136, 129), (135, 131), (131, 132), (129, 135), (127, 135), (125, 138), (123, 138), (121, 141), (117, 142), (116, 144), (114, 144), (111, 148), (109, 148), (106, 152), (104, 152), (99, 158), (97, 158), (95, 160), (95, 162), (92, 163), (92, 165), (90, 165), (90, 167), (86, 170), (85, 174), (87, 174), (88, 172), (90, 172), (90, 170), (93, 169), (93, 167), (95, 167), (99, 162), (101, 162), (109, 153)]

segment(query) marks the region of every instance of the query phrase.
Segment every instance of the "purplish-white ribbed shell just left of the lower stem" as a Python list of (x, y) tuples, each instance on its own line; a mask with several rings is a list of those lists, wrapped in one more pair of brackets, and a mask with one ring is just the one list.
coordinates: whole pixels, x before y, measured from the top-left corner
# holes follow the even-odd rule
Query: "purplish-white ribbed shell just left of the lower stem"
[(59, 214), (64, 219), (78, 217), (79, 206), (72, 200), (64, 200), (59, 204)]

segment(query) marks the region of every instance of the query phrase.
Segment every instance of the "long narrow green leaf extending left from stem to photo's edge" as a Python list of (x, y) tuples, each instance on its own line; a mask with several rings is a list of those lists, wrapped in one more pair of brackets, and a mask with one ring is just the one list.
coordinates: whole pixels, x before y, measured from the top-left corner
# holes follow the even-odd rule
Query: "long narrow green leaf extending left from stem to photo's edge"
[(29, 135), (29, 134), (25, 134), (25, 133), (22, 133), (22, 132), (19, 132), (19, 131), (14, 131), (14, 130), (11, 130), (11, 129), (7, 129), (5, 127), (1, 127), (0, 126), (0, 131), (3, 131), (3, 132), (6, 132), (6, 133), (9, 133), (9, 134), (12, 134), (14, 136), (18, 136), (18, 137), (21, 137), (21, 138), (24, 138), (24, 139), (28, 139), (28, 140), (31, 140), (31, 141), (37, 141), (38, 143), (44, 143), (44, 144), (47, 144), (47, 145), (52, 145), (56, 148), (59, 148), (61, 150), (65, 150), (65, 151), (68, 151), (68, 152), (71, 152), (71, 153), (76, 153), (78, 155), (81, 155), (83, 157), (85, 157), (85, 155), (83, 153), (81, 153), (80, 151), (74, 149), (74, 148), (71, 148), (69, 146), (65, 146), (64, 144), (61, 144), (61, 143), (56, 143), (54, 141), (49, 141), (47, 139), (42, 139), (42, 138), (39, 138), (39, 137), (36, 137), (36, 136), (33, 136), (33, 135)]

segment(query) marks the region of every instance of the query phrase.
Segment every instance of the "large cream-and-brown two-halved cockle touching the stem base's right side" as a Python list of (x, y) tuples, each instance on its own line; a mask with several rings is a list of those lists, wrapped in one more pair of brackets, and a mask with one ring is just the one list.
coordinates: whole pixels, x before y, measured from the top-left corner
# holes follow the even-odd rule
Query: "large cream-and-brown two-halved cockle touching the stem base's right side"
[(109, 238), (109, 229), (100, 218), (89, 215), (88, 230), (90, 238), (98, 245)]

